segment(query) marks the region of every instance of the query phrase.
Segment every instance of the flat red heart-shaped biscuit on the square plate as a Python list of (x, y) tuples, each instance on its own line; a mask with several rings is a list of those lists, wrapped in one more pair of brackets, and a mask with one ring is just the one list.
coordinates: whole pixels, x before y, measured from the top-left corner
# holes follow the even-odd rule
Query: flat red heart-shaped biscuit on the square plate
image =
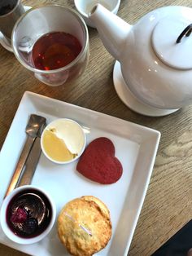
[(95, 182), (111, 184), (120, 179), (123, 167), (115, 157), (114, 144), (110, 139), (101, 137), (89, 143), (76, 170)]

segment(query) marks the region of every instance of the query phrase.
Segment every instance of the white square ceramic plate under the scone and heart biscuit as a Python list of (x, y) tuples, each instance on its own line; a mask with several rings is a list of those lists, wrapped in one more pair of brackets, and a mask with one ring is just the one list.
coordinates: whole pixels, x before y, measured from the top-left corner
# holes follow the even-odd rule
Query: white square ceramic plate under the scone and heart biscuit
[[(107, 137), (114, 143), (116, 157), (124, 170), (118, 182), (111, 185), (91, 182), (76, 171), (77, 161), (67, 166), (56, 165), (41, 154), (32, 184), (50, 192), (57, 205), (57, 214), (63, 205), (76, 197), (92, 195), (100, 198), (111, 212), (112, 237), (97, 255), (127, 255), (150, 182), (159, 131), (25, 92), (0, 154), (0, 203), (24, 146), (25, 126), (32, 113), (46, 117), (47, 123), (60, 117), (72, 118), (84, 127), (87, 143), (98, 137)], [(68, 255), (57, 236), (56, 223), (49, 236), (33, 245), (17, 245), (9, 241), (0, 227), (0, 242), (31, 255)]]

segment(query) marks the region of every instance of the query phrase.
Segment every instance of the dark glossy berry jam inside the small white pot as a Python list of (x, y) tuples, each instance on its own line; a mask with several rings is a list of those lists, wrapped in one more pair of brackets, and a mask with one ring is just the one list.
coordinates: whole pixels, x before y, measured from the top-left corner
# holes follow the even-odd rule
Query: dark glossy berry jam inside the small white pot
[(18, 192), (7, 206), (7, 224), (23, 238), (32, 238), (46, 230), (52, 217), (50, 201), (35, 189)]

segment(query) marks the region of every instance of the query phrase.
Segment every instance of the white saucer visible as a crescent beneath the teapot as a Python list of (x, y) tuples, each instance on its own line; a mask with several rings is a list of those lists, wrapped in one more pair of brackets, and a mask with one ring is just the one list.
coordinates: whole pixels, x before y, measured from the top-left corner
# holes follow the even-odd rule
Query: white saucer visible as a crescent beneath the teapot
[(120, 97), (120, 99), (126, 106), (128, 106), (131, 110), (133, 110), (136, 113), (148, 117), (163, 117), (168, 114), (174, 113), (179, 109), (161, 109), (151, 107), (147, 104), (143, 104), (139, 99), (137, 99), (133, 95), (133, 93), (129, 90), (129, 87), (124, 82), (124, 78), (120, 70), (120, 62), (117, 60), (113, 69), (113, 82), (117, 95)]

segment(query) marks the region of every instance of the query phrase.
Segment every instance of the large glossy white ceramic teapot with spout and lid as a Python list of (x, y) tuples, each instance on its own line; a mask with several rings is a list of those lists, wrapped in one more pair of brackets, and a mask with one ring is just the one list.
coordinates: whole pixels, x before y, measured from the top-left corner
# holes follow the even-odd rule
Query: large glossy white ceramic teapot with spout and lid
[[(124, 84), (137, 101), (137, 106), (130, 108), (149, 116), (163, 116), (192, 104), (190, 7), (162, 7), (130, 25), (98, 4), (89, 19), (107, 51), (120, 62)], [(119, 89), (126, 104), (129, 99), (124, 99), (124, 94), (128, 91)]]

